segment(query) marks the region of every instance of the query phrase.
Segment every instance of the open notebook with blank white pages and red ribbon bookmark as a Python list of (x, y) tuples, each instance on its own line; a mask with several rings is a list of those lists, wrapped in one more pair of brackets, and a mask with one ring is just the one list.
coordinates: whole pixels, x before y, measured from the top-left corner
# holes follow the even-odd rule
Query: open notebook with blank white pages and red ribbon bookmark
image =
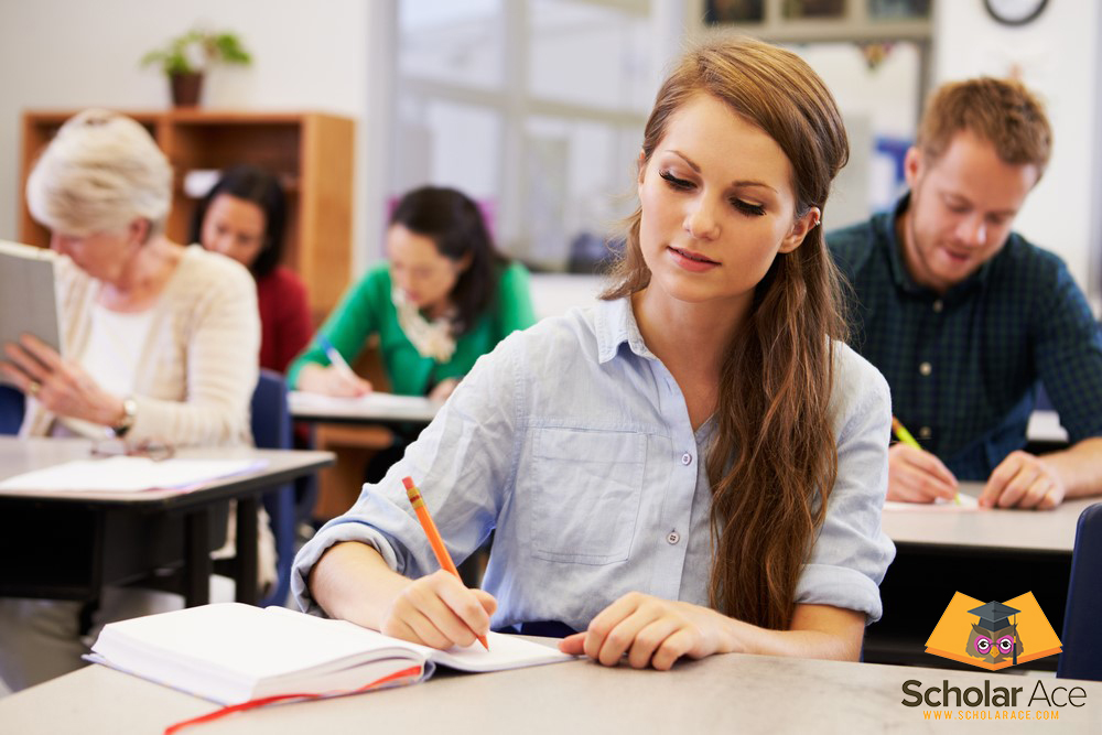
[(434, 663), (484, 672), (574, 658), (516, 636), (491, 633), (488, 644), (441, 651), (346, 620), (222, 603), (110, 623), (88, 658), (220, 704), (413, 683)]

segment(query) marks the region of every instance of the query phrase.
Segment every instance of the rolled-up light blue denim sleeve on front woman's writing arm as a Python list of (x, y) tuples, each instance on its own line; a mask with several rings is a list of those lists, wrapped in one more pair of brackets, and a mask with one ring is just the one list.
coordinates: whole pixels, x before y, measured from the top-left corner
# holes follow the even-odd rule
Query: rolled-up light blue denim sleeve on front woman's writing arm
[(365, 484), (356, 504), (326, 523), (299, 552), (291, 590), (299, 607), (322, 614), (306, 581), (325, 551), (344, 541), (375, 548), (390, 569), (415, 579), (439, 568), (402, 485), (412, 477), (444, 544), (461, 563), (496, 525), (518, 456), (515, 341), (475, 364), (436, 418), (378, 484)]

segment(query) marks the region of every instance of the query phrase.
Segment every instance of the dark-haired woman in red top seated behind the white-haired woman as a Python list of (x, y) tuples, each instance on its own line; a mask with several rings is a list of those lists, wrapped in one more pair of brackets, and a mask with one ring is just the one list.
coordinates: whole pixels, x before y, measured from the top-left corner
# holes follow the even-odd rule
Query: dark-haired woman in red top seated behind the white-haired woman
[(260, 305), (260, 367), (287, 371), (314, 333), (306, 287), (283, 255), (287, 201), (270, 173), (250, 165), (228, 169), (199, 202), (192, 241), (249, 269)]

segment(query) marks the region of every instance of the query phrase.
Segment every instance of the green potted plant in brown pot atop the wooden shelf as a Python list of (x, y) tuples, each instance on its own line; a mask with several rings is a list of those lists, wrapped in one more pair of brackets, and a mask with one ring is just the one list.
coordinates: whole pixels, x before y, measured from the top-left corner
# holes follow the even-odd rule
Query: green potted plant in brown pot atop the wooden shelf
[(203, 74), (214, 64), (249, 64), (252, 57), (233, 32), (215, 33), (193, 29), (171, 39), (141, 58), (142, 66), (156, 64), (169, 77), (172, 104), (176, 107), (198, 105)]

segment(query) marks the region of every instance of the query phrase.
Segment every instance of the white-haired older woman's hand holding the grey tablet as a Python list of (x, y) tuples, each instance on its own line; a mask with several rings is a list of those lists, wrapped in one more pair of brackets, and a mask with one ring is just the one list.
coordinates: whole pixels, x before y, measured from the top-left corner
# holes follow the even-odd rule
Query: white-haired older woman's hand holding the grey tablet
[(0, 369), (46, 410), (105, 426), (115, 425), (122, 415), (121, 398), (101, 389), (79, 365), (36, 337), (24, 334), (19, 344), (8, 343), (4, 355), (11, 361), (0, 363)]

